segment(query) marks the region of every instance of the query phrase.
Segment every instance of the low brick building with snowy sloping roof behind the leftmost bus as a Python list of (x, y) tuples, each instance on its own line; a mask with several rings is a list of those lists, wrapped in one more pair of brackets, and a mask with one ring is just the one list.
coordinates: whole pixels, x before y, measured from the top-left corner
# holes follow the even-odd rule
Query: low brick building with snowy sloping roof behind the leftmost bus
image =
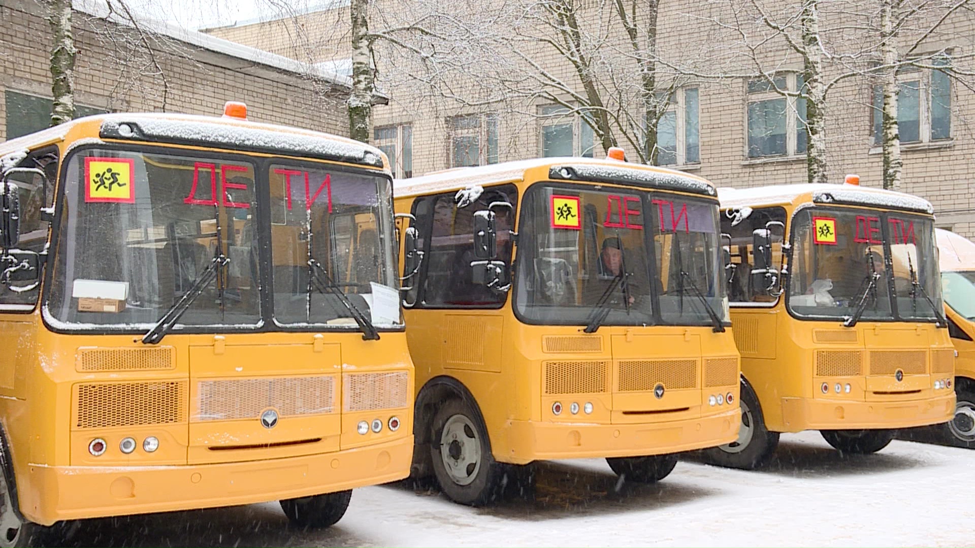
[[(77, 7), (76, 3), (76, 7)], [(50, 125), (52, 31), (46, 6), (0, 0), (0, 138)], [(227, 100), (255, 121), (348, 135), (349, 79), (213, 36), (145, 21), (152, 51), (133, 29), (75, 11), (77, 115), (170, 111), (218, 115)], [(158, 67), (157, 67), (158, 66)]]

